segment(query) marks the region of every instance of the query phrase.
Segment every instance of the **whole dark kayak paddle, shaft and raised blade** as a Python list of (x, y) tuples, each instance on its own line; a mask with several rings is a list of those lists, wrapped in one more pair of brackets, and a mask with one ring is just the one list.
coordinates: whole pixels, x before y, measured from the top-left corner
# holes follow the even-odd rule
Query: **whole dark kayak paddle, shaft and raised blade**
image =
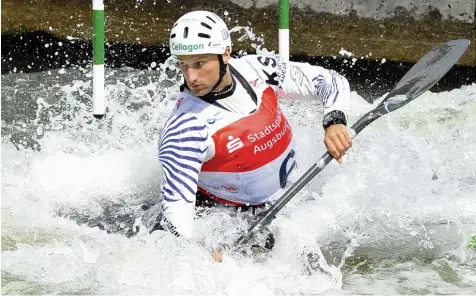
[[(366, 126), (382, 115), (397, 110), (416, 99), (422, 93), (435, 85), (464, 54), (469, 46), (469, 40), (453, 40), (434, 47), (416, 63), (397, 85), (388, 93), (385, 99), (372, 111), (360, 118), (352, 127), (355, 137)], [(247, 243), (259, 229), (269, 224), (276, 214), (309, 183), (333, 159), (326, 153), (304, 175), (281, 196), (248, 232), (240, 236), (234, 243), (235, 248)]]

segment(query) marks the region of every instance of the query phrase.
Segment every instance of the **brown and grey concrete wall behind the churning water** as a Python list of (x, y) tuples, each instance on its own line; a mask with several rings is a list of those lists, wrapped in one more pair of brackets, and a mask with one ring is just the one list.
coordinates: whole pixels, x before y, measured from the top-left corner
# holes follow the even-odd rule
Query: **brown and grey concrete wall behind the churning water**
[[(246, 28), (232, 33), (235, 52), (251, 53), (257, 47), (278, 50), (279, 0), (104, 2), (109, 62), (127, 60), (127, 64), (133, 64), (142, 53), (146, 61), (154, 54), (165, 55), (173, 23), (184, 13), (198, 9), (216, 12), (230, 29)], [(416, 62), (437, 44), (465, 38), (472, 44), (459, 63), (476, 66), (475, 3), (476, 0), (290, 0), (290, 52), (294, 57), (339, 57), (344, 49), (353, 53), (350, 60)], [(45, 43), (51, 38), (62, 39), (63, 45), (72, 40), (75, 44), (71, 50), (81, 50), (76, 49), (75, 40), (91, 42), (91, 0), (3, 0), (1, 5), (5, 69), (19, 67), (26, 56), (41, 63), (45, 60), (48, 65), (61, 64), (55, 52), (44, 53), (45, 48), (53, 48), (55, 42)], [(53, 36), (45, 37), (45, 32)], [(23, 39), (18, 35), (24, 35)], [(119, 48), (134, 50), (125, 57), (118, 49), (112, 50), (111, 46), (118, 44), (122, 44)], [(91, 54), (89, 47), (85, 54)], [(84, 63), (89, 62), (89, 57), (84, 59)], [(37, 63), (28, 60), (30, 67)]]

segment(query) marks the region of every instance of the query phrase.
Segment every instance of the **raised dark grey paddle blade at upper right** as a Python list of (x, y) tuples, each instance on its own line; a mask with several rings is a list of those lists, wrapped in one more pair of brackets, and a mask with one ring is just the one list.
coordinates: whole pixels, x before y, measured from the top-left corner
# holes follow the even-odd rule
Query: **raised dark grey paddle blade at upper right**
[(380, 115), (392, 112), (429, 90), (458, 62), (469, 40), (453, 40), (438, 45), (424, 55), (403, 76), (376, 108)]

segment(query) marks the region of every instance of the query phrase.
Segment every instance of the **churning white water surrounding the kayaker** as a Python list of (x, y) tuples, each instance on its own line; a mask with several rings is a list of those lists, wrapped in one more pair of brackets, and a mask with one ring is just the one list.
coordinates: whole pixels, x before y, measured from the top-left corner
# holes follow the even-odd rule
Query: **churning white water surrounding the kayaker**
[[(159, 196), (156, 138), (175, 104), (163, 90), (174, 83), (163, 73), (107, 71), (110, 113), (97, 123), (84, 101), (90, 72), (57, 72), (2, 77), (3, 108), (34, 98), (33, 109), (2, 114), (2, 294), (476, 291), (466, 246), (476, 232), (476, 85), (427, 92), (374, 122), (342, 165), (329, 164), (279, 214), (271, 253), (226, 254), (219, 264), (210, 251), (248, 226), (246, 214), (211, 211), (196, 221), (195, 242), (124, 235), (132, 226), (124, 216), (140, 217)], [(351, 123), (376, 105), (355, 92), (352, 100)], [(55, 111), (60, 102), (68, 106)], [(296, 180), (325, 151), (321, 111), (317, 102), (282, 104), (299, 139)], [(28, 136), (11, 139), (31, 131), (41, 151), (17, 150), (12, 141), (27, 146)], [(98, 221), (113, 233), (87, 226)], [(334, 279), (305, 271), (301, 255), (319, 249)], [(362, 263), (339, 268), (342, 257)]]

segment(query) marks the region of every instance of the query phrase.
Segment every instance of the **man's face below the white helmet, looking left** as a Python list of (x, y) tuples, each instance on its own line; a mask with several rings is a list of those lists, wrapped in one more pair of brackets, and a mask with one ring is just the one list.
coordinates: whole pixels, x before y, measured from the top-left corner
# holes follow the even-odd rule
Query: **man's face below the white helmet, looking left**
[(203, 96), (212, 91), (220, 76), (220, 62), (216, 54), (177, 56), (180, 71), (192, 94)]

